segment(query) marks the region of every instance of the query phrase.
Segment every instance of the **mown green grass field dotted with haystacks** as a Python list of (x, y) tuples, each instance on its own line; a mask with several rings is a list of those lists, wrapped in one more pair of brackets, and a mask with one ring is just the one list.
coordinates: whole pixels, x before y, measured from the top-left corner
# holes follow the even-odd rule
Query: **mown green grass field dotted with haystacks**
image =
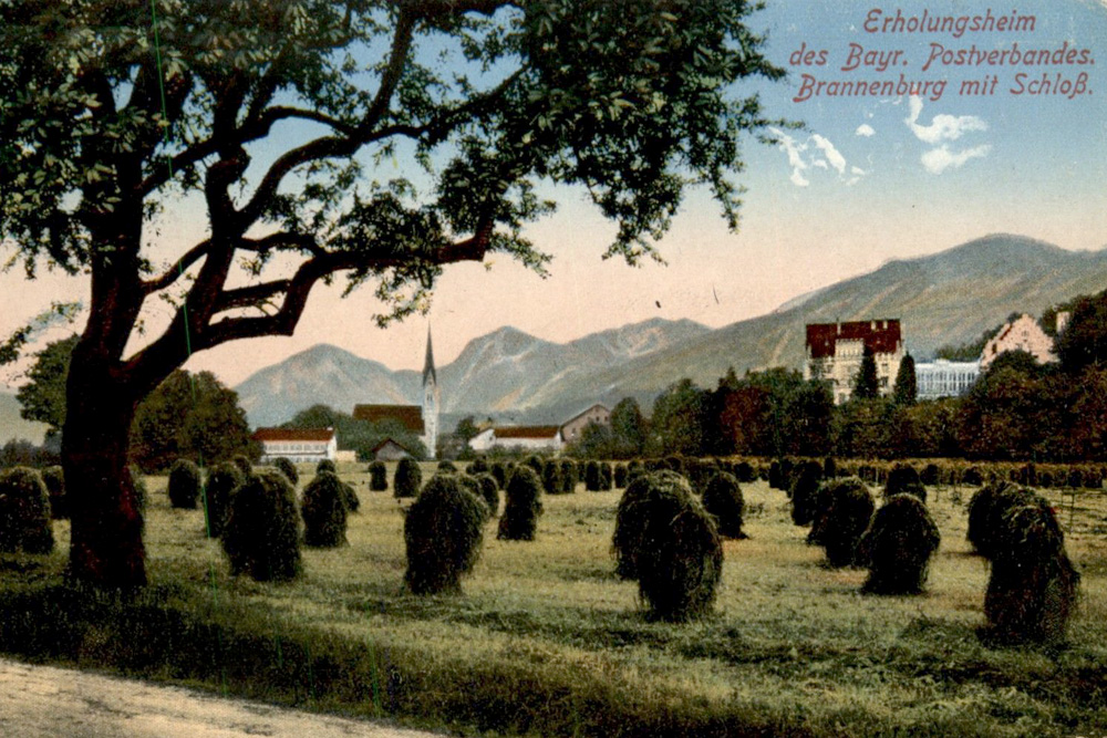
[(1083, 574), (1067, 647), (992, 649), (975, 635), (989, 571), (964, 541), (972, 488), (930, 489), (942, 544), (927, 593), (879, 597), (859, 593), (863, 571), (821, 564), (783, 492), (744, 485), (751, 538), (725, 543), (715, 613), (674, 625), (649, 622), (612, 573), (620, 492), (547, 496), (535, 542), (487, 523), (464, 595), (414, 597), (401, 506), (362, 469), (341, 470), (362, 501), (350, 545), (306, 550), (287, 585), (230, 578), (164, 478), (152, 586), (134, 601), (64, 585), (55, 523), (54, 554), (4, 560), (0, 646), (465, 735), (1107, 735), (1101, 490), (1044, 492)]

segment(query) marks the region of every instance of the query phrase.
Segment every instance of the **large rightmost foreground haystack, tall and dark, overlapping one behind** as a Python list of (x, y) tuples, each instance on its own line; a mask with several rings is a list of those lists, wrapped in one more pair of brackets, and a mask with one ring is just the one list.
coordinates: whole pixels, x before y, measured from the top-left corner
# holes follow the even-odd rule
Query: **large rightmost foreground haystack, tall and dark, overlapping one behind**
[(989, 640), (1058, 643), (1076, 606), (1080, 575), (1065, 552), (1065, 536), (1045, 500), (1007, 510), (1005, 533), (992, 557), (984, 595)]

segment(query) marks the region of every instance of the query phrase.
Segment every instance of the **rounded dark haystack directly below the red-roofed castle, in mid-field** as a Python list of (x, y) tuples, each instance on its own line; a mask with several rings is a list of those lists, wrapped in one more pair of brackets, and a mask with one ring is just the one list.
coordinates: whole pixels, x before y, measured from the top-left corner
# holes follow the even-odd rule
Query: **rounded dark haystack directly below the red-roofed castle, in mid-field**
[(831, 567), (857, 563), (857, 547), (876, 507), (869, 488), (858, 477), (827, 479), (819, 488), (815, 507), (808, 542), (824, 548)]

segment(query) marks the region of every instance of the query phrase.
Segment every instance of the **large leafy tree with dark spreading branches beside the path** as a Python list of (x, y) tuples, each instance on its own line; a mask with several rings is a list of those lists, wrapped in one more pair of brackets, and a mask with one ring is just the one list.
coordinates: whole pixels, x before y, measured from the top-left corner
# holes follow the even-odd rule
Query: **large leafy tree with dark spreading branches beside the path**
[[(49, 261), (92, 283), (62, 449), (72, 574), (145, 582), (135, 407), (189, 353), (291, 334), (315, 283), (371, 284), (386, 321), (425, 309), (447, 263), (541, 271), (521, 228), (549, 211), (545, 181), (586, 187), (618, 226), (608, 256), (631, 262), (689, 184), (736, 227), (741, 138), (767, 122), (735, 83), (782, 75), (755, 7), (3, 3), (0, 236), (29, 274)], [(182, 197), (207, 232), (166, 259), (158, 212)], [(168, 325), (128, 347), (158, 298)]]

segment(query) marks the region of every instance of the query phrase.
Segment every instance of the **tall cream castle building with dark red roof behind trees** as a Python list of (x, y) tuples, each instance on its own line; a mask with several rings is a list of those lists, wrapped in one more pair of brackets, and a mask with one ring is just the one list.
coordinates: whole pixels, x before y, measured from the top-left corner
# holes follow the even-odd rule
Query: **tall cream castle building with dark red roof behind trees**
[(829, 382), (835, 403), (840, 405), (853, 394), (866, 349), (877, 363), (877, 389), (881, 395), (891, 394), (904, 355), (900, 323), (894, 319), (809, 323), (804, 378)]

